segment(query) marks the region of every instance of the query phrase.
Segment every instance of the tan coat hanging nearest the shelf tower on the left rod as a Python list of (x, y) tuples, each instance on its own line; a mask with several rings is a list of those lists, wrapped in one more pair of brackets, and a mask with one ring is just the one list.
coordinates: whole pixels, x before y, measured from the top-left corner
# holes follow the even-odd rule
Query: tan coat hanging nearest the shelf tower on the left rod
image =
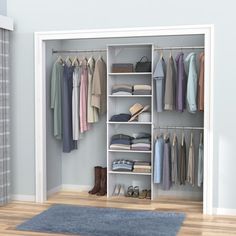
[(92, 83), (91, 105), (99, 110), (99, 115), (105, 114), (107, 110), (107, 66), (101, 57), (95, 64)]

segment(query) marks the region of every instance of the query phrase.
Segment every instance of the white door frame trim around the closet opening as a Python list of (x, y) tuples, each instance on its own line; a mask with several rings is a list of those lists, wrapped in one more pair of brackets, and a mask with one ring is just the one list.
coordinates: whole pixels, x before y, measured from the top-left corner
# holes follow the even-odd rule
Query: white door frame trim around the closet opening
[[(94, 29), (35, 32), (35, 199), (47, 199), (46, 186), (46, 72), (45, 43), (49, 40), (202, 34), (205, 38), (204, 188), (203, 213), (213, 209), (213, 72), (214, 26), (190, 25), (151, 28)], [(158, 42), (157, 42), (158, 43)]]

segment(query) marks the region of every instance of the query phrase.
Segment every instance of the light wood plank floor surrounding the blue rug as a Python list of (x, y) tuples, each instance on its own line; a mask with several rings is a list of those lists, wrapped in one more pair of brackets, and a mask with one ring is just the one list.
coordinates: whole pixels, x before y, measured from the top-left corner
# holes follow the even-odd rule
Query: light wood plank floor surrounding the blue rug
[(236, 235), (236, 217), (204, 216), (202, 203), (184, 200), (162, 199), (155, 202), (128, 198), (89, 196), (85, 193), (61, 192), (50, 197), (46, 204), (13, 202), (0, 208), (0, 235), (58, 235), (16, 231), (15, 226), (39, 214), (54, 203), (86, 206), (115, 207), (159, 211), (185, 212), (186, 219), (179, 235)]

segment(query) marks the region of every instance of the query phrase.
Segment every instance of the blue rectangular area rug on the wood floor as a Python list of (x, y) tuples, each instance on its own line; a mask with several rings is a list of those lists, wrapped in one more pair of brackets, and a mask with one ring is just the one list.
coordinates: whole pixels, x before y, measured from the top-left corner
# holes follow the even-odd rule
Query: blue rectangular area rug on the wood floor
[(17, 230), (81, 236), (176, 235), (183, 213), (54, 205), (19, 225)]

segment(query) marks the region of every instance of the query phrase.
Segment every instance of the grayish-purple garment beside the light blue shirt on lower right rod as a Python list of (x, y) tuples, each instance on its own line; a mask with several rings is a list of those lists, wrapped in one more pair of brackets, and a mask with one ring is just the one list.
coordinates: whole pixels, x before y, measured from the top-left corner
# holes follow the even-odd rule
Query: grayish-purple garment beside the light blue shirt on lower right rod
[(166, 138), (164, 142), (162, 185), (164, 190), (169, 190), (171, 186), (171, 156), (169, 138)]

